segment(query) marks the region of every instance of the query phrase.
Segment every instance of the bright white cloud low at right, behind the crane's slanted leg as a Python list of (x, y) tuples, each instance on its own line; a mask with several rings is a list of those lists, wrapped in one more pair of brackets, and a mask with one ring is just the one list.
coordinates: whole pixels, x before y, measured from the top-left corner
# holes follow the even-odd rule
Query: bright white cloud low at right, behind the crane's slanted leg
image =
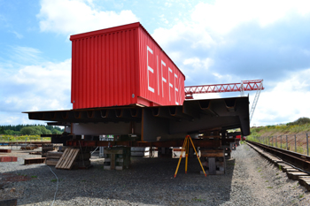
[[(251, 125), (274, 125), (310, 117), (309, 76), (310, 69), (291, 72), (290, 78), (277, 82), (275, 88), (261, 91)], [(251, 96), (251, 101), (253, 98), (254, 95)], [(283, 119), (286, 121), (283, 122)]]

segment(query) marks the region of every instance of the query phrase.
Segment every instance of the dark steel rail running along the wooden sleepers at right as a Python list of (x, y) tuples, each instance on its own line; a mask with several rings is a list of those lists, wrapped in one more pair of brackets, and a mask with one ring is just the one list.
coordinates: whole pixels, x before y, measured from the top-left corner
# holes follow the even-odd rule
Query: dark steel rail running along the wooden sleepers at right
[(285, 149), (275, 148), (255, 141), (247, 141), (247, 142), (250, 142), (251, 144), (259, 147), (260, 149), (264, 149), (268, 153), (280, 157), (285, 162), (288, 162), (299, 168), (302, 168), (306, 172), (310, 172), (310, 156), (305, 156), (303, 154)]

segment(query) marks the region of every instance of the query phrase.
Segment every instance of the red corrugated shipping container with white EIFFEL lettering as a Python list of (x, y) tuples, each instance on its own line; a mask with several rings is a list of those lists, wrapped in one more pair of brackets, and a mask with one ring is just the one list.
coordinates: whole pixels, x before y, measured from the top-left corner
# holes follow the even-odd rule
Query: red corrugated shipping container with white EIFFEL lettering
[(140, 23), (70, 40), (74, 109), (183, 103), (184, 75)]

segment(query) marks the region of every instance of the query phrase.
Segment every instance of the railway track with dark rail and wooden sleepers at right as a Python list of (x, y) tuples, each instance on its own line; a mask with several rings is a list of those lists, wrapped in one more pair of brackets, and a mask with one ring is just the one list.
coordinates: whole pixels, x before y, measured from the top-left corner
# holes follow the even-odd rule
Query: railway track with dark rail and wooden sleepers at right
[(254, 141), (246, 143), (274, 163), (279, 169), (287, 173), (289, 179), (298, 180), (299, 184), (310, 191), (310, 156), (304, 156), (296, 152), (278, 149), (272, 146), (260, 144)]

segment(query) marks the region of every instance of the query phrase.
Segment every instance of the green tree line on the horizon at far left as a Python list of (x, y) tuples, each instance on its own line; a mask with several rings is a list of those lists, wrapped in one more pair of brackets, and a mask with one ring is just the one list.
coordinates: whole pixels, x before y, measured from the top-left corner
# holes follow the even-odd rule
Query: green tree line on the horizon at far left
[(7, 134), (7, 135), (62, 134), (63, 132), (64, 129), (58, 126), (44, 126), (44, 125), (0, 126), (0, 134)]

